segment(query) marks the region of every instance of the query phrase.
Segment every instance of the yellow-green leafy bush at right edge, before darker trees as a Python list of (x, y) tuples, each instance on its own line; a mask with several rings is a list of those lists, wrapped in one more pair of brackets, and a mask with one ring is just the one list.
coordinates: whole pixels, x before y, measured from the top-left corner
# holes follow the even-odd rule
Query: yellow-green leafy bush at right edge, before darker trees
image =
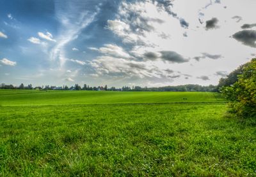
[(256, 117), (256, 59), (246, 63), (238, 81), (221, 88), (221, 92), (230, 101), (231, 112), (239, 117)]

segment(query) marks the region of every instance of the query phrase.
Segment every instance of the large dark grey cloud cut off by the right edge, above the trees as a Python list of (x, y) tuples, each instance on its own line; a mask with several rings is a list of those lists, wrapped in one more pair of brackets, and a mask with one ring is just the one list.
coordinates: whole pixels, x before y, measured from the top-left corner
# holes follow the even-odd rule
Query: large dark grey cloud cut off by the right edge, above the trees
[(236, 32), (232, 36), (237, 41), (243, 43), (244, 45), (256, 47), (256, 31), (255, 30), (243, 30)]

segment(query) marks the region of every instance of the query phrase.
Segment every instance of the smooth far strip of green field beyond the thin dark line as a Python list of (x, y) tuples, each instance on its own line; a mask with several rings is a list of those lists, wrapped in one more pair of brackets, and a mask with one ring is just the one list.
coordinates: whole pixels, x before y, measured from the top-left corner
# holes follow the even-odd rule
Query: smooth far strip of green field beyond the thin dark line
[[(211, 92), (99, 92), (0, 90), (0, 105), (186, 103), (225, 101)], [(186, 98), (186, 100), (184, 100)]]

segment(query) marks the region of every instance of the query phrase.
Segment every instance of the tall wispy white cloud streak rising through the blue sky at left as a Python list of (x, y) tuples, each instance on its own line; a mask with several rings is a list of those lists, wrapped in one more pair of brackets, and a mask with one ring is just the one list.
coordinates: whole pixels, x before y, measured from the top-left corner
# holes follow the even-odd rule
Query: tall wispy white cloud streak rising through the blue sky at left
[(56, 1), (56, 17), (61, 23), (61, 31), (58, 36), (58, 41), (56, 45), (52, 48), (50, 52), (50, 59), (52, 61), (58, 60), (59, 67), (61, 70), (68, 60), (66, 57), (65, 46), (78, 38), (81, 31), (91, 24), (95, 18), (98, 11), (86, 11), (79, 10), (79, 3), (73, 3), (68, 1), (69, 5), (63, 7), (62, 1)]

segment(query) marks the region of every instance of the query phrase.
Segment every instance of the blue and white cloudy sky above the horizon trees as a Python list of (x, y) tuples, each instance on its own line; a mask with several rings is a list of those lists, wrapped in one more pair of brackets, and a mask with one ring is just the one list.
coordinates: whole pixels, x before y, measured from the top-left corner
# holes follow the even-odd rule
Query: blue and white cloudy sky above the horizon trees
[(1, 0), (0, 83), (216, 85), (256, 55), (255, 0)]

